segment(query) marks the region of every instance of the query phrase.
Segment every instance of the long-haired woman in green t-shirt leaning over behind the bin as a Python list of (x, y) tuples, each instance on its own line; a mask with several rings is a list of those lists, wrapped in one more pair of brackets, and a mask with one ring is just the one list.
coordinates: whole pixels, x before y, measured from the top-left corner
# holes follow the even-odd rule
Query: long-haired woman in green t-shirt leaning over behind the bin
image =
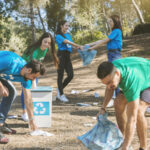
[[(51, 53), (54, 59), (54, 64), (56, 68), (58, 67), (58, 58), (55, 51), (55, 43), (52, 38), (52, 35), (48, 32), (45, 32), (37, 42), (30, 45), (25, 52), (23, 53), (22, 58), (25, 59), (27, 62), (31, 61), (32, 59), (42, 61), (44, 60), (48, 48), (51, 48)], [(34, 83), (34, 82), (33, 82)], [(36, 79), (36, 84), (38, 83), (38, 78)], [(26, 108), (24, 104), (24, 95), (23, 92), (21, 93), (21, 103), (23, 108), (22, 119), (24, 121), (28, 121), (28, 116), (26, 113)]]

